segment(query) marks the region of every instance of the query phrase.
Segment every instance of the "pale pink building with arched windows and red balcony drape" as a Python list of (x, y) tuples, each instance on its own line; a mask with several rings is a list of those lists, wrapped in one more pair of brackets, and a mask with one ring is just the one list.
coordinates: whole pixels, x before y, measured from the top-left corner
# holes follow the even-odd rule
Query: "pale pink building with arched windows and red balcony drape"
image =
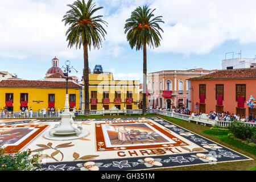
[(188, 105), (188, 78), (201, 77), (213, 71), (203, 68), (189, 69), (187, 71), (160, 71), (148, 73), (148, 102), (147, 107), (159, 106), (171, 108), (171, 106)]

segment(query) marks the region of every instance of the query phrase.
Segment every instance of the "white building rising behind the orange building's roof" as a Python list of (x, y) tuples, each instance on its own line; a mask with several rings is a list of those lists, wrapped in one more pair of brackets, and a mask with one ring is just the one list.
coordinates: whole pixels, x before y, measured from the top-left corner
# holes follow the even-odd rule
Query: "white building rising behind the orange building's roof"
[(233, 58), (222, 60), (222, 69), (242, 69), (242, 68), (255, 68), (256, 59), (251, 58)]

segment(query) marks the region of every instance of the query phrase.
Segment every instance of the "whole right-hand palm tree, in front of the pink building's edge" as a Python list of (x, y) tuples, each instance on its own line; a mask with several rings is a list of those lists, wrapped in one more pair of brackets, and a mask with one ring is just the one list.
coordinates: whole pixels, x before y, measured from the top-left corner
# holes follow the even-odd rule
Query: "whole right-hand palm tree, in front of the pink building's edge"
[(143, 99), (142, 112), (146, 114), (146, 84), (147, 84), (147, 45), (151, 47), (160, 46), (162, 36), (159, 32), (162, 31), (158, 23), (164, 23), (162, 16), (155, 16), (155, 11), (148, 9), (147, 5), (137, 7), (132, 13), (131, 18), (126, 20), (125, 34), (127, 32), (127, 41), (131, 48), (136, 46), (136, 51), (143, 48)]

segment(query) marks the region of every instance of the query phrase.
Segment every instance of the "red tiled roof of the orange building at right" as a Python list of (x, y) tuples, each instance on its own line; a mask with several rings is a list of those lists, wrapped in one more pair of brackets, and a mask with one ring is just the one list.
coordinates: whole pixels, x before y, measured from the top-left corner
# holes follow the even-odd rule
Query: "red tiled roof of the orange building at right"
[(256, 68), (224, 69), (201, 77), (190, 78), (188, 80), (225, 80), (244, 78), (256, 78)]

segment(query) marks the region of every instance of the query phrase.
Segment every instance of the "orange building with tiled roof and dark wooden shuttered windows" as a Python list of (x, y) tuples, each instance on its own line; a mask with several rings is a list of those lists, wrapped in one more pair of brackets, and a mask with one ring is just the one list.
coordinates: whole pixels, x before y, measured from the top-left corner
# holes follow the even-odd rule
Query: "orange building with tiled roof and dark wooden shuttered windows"
[[(255, 110), (246, 105), (256, 96), (256, 69), (220, 70), (202, 77), (188, 79), (188, 109), (194, 113), (229, 111), (255, 117)], [(197, 105), (197, 106), (196, 106)]]

